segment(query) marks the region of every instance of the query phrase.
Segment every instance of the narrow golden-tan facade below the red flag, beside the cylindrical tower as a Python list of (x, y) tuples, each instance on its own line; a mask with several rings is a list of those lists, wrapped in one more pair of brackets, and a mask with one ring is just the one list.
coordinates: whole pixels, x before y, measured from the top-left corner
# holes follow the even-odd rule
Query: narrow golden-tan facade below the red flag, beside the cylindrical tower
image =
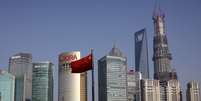
[(80, 74), (80, 101), (87, 101), (87, 72)]

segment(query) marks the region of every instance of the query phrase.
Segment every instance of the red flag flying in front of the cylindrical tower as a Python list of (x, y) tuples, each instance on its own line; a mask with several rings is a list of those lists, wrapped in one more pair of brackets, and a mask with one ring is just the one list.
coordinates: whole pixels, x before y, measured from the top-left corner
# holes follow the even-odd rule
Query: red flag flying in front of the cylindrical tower
[(72, 73), (82, 73), (87, 70), (92, 69), (93, 65), (93, 56), (89, 54), (88, 56), (81, 58), (80, 60), (73, 61), (70, 63), (72, 68)]

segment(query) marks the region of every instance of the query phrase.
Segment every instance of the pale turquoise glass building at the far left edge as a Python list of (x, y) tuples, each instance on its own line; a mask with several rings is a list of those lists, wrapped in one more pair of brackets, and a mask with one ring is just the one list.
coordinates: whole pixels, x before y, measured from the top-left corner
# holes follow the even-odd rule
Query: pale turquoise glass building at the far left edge
[(14, 101), (15, 76), (0, 70), (0, 101)]

